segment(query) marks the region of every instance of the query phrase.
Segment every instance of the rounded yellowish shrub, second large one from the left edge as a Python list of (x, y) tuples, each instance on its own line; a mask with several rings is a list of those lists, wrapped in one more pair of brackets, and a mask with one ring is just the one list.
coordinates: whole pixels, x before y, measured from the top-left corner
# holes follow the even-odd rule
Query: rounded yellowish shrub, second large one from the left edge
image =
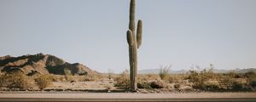
[(49, 75), (40, 75), (35, 79), (35, 81), (37, 82), (38, 88), (44, 89), (52, 84), (53, 79)]

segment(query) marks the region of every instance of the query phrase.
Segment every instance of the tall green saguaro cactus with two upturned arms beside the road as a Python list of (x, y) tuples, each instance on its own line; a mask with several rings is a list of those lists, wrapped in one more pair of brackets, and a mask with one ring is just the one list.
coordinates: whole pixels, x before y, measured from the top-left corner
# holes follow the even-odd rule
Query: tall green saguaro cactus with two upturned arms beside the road
[(127, 42), (129, 44), (129, 59), (131, 73), (131, 91), (137, 90), (137, 49), (140, 48), (143, 37), (143, 20), (138, 20), (136, 31), (135, 9), (136, 0), (131, 0), (129, 30), (127, 31)]

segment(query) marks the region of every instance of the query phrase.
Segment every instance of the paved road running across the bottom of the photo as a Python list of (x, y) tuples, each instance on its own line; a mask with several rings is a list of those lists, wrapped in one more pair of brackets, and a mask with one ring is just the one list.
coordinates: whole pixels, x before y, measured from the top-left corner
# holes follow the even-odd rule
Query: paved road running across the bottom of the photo
[(222, 101), (256, 102), (256, 93), (191, 94), (0, 94), (0, 102)]

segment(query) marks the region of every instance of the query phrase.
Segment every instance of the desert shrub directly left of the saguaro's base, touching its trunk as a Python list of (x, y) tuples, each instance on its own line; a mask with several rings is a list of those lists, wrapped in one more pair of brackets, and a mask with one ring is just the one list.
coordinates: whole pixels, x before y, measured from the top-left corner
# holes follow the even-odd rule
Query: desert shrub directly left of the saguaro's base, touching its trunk
[(130, 88), (130, 78), (128, 71), (124, 71), (122, 74), (119, 75), (119, 77), (116, 77), (115, 79), (116, 83), (114, 84), (115, 87), (119, 88)]

